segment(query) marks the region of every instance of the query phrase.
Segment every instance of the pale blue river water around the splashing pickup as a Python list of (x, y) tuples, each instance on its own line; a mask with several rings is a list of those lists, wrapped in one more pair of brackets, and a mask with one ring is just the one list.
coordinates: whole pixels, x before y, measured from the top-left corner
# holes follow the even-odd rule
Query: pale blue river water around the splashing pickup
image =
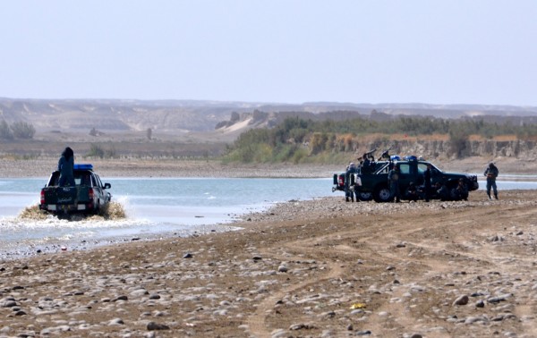
[[(38, 204), (46, 178), (0, 179), (0, 254), (75, 243), (131, 240), (164, 233), (188, 235), (221, 229), (240, 215), (292, 199), (341, 196), (332, 179), (112, 178), (109, 191), (126, 211), (126, 219), (70, 222), (20, 219), (25, 207)], [(509, 176), (499, 190), (537, 189), (533, 177)], [(522, 181), (519, 181), (522, 180)], [(480, 189), (484, 182), (480, 182)], [(371, 202), (372, 203), (372, 202)], [(228, 228), (232, 229), (232, 228)]]

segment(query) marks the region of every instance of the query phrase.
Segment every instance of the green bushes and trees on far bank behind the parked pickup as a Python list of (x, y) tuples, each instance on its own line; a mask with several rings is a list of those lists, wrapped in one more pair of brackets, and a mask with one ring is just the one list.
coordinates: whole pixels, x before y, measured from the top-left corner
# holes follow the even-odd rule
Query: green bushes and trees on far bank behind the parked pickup
[(312, 121), (288, 117), (272, 129), (243, 132), (227, 148), (226, 161), (243, 163), (294, 162), (306, 159), (328, 162), (335, 153), (354, 151), (355, 139), (367, 134), (448, 135), (451, 151), (461, 154), (470, 135), (492, 139), (516, 135), (517, 139), (537, 137), (536, 124), (487, 123), (483, 119), (447, 120), (401, 116), (387, 121), (357, 117), (345, 121)]

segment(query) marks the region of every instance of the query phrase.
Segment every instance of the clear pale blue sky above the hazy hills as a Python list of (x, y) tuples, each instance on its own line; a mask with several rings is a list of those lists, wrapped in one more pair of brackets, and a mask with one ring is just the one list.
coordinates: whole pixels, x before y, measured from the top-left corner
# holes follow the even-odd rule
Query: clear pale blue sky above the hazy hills
[(537, 106), (534, 0), (4, 0), (0, 97)]

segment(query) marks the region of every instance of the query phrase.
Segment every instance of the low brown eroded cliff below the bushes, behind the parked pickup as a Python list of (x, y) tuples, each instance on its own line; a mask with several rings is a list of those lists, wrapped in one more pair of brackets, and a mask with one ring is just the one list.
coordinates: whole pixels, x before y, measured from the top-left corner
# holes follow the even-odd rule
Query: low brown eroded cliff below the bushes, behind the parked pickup
[[(382, 140), (372, 142), (371, 148), (377, 148), (376, 156), (385, 149), (392, 155), (415, 155), (426, 158), (457, 158), (484, 156), (490, 158), (512, 157), (520, 159), (537, 159), (537, 142), (533, 140), (469, 140), (453, 145), (449, 140)], [(360, 153), (364, 147), (359, 147)], [(367, 150), (364, 150), (365, 152)]]

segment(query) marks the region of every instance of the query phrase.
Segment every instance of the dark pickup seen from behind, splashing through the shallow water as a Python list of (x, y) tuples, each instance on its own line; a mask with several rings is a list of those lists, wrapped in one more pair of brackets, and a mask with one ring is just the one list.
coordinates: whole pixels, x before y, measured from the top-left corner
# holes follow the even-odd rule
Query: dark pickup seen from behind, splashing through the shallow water
[(98, 174), (93, 172), (93, 165), (74, 165), (73, 175), (73, 187), (59, 187), (60, 172), (53, 172), (41, 190), (39, 209), (54, 215), (97, 215), (110, 203), (112, 195), (107, 189), (112, 186), (101, 182)]

